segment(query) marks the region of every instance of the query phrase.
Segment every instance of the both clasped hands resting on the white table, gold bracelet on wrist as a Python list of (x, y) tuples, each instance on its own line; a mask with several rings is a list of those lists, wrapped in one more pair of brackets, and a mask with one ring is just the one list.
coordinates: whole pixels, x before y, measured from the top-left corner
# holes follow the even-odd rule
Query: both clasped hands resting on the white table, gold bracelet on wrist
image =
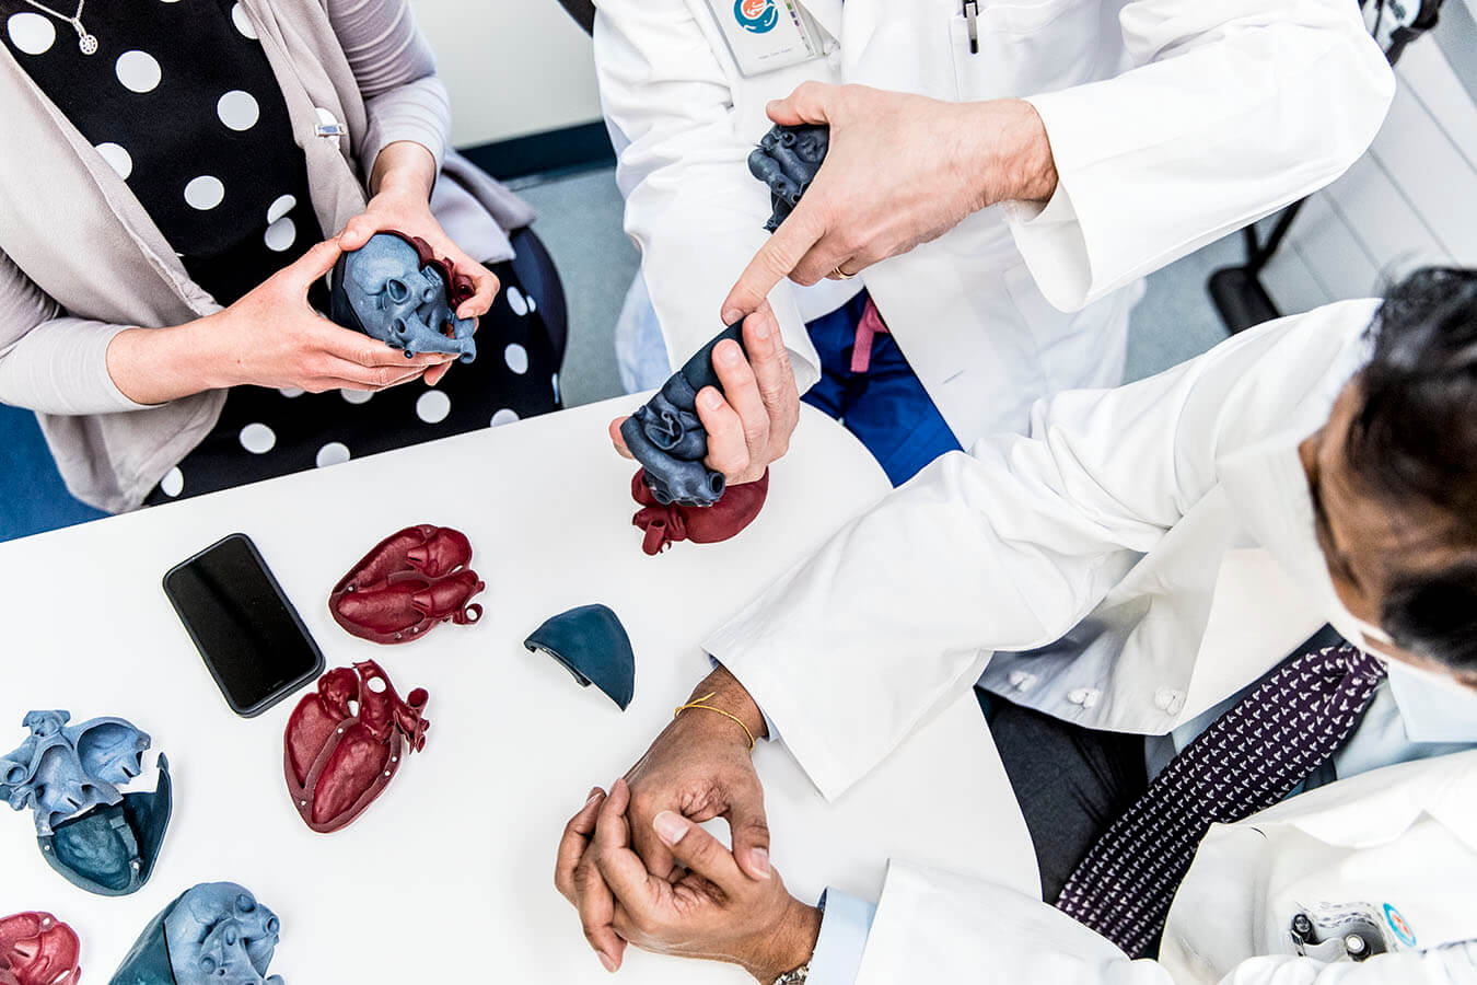
[[(762, 734), (758, 707), (727, 670), (694, 696), (707, 693)], [(733, 851), (700, 827), (718, 817), (728, 821)], [(790, 896), (768, 849), (749, 737), (721, 715), (693, 710), (609, 793), (591, 790), (564, 828), (554, 883), (609, 972), (635, 944), (738, 964), (770, 985), (809, 958), (820, 913)]]

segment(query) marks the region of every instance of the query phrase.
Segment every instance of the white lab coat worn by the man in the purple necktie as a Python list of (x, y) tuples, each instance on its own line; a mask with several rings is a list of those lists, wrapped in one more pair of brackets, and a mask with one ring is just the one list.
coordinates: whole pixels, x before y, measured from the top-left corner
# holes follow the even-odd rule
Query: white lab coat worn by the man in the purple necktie
[[(1323, 623), (1347, 625), (1297, 446), (1368, 360), (1377, 307), (1331, 304), (1158, 377), (1040, 402), (1031, 437), (933, 462), (706, 650), (827, 797), (982, 670), (1012, 700), (1089, 728), (1192, 721)], [(1468, 981), (1440, 969), (1477, 976), (1477, 951), (1319, 972), (1289, 964), (1284, 932), (1295, 904), (1375, 895), (1424, 924), (1422, 945), (1477, 938), (1474, 818), (1477, 758), (1461, 753), (1213, 828), (1162, 966), (1128, 963), (1038, 899), (895, 862), (858, 981)]]

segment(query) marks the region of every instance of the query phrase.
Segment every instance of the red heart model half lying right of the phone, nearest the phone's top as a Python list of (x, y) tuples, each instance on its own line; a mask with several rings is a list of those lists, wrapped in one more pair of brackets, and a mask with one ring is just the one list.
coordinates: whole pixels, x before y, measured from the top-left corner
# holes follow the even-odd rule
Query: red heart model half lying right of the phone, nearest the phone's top
[(471, 563), (471, 542), (450, 527), (422, 523), (394, 533), (334, 586), (334, 620), (363, 639), (411, 642), (436, 623), (482, 619), (467, 603), (486, 588)]

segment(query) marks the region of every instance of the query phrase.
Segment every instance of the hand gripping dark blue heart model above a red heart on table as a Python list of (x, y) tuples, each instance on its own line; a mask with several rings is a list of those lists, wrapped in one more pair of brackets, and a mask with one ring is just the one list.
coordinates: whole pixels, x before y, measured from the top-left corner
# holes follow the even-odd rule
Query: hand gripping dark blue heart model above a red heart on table
[[(734, 486), (764, 477), (770, 462), (790, 449), (790, 436), (801, 419), (801, 394), (790, 353), (767, 303), (761, 303), (744, 320), (743, 341), (749, 359), (737, 343), (725, 341), (713, 350), (713, 369), (724, 384), (722, 393), (716, 387), (703, 387), (697, 394), (697, 416), (707, 430), (707, 458), (703, 464), (722, 473)], [(625, 418), (610, 422), (610, 440), (617, 452), (631, 458), (620, 437), (623, 422)]]

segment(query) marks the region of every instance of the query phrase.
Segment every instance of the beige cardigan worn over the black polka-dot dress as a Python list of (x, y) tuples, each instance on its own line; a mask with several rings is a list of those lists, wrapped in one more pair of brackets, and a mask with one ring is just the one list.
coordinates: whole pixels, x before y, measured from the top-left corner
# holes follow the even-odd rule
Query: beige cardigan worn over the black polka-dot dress
[[(408, 0), (242, 6), (287, 97), (325, 230), (363, 210), (363, 179), (380, 151), (415, 140), (443, 164), (431, 205), (448, 235), (473, 255), (513, 255), (504, 230), (527, 224), (532, 210), (446, 151), (445, 89)], [(409, 32), (412, 44), (400, 38), (387, 59), (403, 61), (415, 47), (425, 62), (419, 77), (380, 71), (366, 80), (374, 72), (359, 66), (356, 78), (335, 6), (349, 10), (343, 21), (360, 22), (365, 10), (381, 7), (368, 27), (388, 28), (387, 47), (394, 30)], [(372, 93), (368, 100), (362, 89)], [(191, 281), (123, 179), (3, 49), (0, 106), (7, 130), (0, 143), (0, 402), (37, 412), (72, 495), (112, 512), (133, 509), (214, 427), (226, 391), (134, 403), (108, 375), (108, 344), (124, 328), (179, 325), (220, 306)], [(319, 136), (328, 115), (346, 137)]]

